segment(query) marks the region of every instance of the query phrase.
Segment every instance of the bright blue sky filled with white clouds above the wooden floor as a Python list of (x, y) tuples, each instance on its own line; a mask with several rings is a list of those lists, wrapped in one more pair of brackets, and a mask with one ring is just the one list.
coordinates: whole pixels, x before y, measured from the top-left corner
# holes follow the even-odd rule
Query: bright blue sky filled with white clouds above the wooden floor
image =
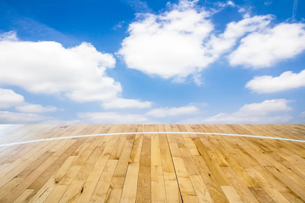
[(305, 1), (0, 0), (0, 123), (305, 123)]

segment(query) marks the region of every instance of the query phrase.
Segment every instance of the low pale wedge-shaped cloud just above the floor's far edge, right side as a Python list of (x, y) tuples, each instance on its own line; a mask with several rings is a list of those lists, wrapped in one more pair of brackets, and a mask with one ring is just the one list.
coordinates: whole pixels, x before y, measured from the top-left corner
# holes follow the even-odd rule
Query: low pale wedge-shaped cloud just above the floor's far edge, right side
[(180, 121), (180, 123), (287, 123), (293, 119), (292, 116), (270, 115), (292, 110), (287, 103), (289, 100), (286, 99), (265, 100), (262, 103), (244, 105), (232, 114), (220, 113), (207, 118), (190, 118)]

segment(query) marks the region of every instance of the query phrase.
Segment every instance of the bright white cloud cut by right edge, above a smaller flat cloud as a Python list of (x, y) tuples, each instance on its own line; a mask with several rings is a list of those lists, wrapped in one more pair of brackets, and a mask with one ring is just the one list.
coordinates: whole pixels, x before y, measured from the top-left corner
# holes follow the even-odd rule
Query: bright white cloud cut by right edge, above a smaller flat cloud
[(304, 27), (303, 23), (282, 23), (251, 33), (229, 55), (230, 64), (260, 69), (293, 58), (305, 50)]

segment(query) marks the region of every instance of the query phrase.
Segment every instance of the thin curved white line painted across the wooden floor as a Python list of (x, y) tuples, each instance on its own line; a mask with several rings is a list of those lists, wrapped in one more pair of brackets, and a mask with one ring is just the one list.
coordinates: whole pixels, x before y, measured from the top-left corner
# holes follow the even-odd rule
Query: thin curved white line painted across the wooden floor
[(227, 133), (215, 133), (215, 132), (116, 132), (116, 133), (105, 133), (105, 134), (85, 134), (83, 136), (71, 136), (71, 137), (59, 137), (59, 138), (48, 138), (42, 140), (31, 140), (24, 141), (19, 143), (8, 143), (0, 145), (0, 147), (11, 146), (11, 145), (20, 145), (26, 143), (37, 143), (43, 141), (51, 141), (51, 140), (63, 140), (63, 139), (71, 139), (71, 138), (84, 138), (84, 137), (96, 137), (96, 136), (115, 136), (118, 134), (215, 134), (218, 136), (237, 136), (237, 137), (249, 137), (249, 138), (263, 138), (263, 139), (271, 139), (271, 140), (286, 140), (292, 142), (300, 142), (305, 143), (305, 140), (294, 140), (287, 138), (275, 138), (275, 137), (265, 137), (265, 136), (250, 136), (248, 134), (227, 134)]

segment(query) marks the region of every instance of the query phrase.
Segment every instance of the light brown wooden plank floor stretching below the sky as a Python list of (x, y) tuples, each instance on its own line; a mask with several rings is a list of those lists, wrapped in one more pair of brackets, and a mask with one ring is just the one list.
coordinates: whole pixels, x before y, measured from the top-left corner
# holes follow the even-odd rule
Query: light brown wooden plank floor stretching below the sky
[[(305, 140), (305, 125), (0, 125), (0, 145), (149, 131)], [(0, 202), (305, 202), (305, 143), (155, 133), (5, 146)]]

